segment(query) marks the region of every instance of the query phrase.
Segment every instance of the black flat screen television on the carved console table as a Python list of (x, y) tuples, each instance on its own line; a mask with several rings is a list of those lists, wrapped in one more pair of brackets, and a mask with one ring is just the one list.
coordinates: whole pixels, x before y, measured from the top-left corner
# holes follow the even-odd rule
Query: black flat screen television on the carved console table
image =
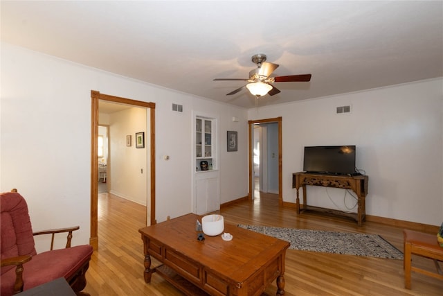
[(303, 171), (335, 175), (355, 175), (355, 146), (305, 147)]

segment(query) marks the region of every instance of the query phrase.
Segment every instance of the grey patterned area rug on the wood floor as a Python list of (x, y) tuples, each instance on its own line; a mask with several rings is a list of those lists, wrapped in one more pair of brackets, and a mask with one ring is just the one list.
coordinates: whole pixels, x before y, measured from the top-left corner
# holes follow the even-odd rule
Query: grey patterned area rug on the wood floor
[(237, 225), (291, 243), (289, 249), (403, 260), (403, 253), (377, 234)]

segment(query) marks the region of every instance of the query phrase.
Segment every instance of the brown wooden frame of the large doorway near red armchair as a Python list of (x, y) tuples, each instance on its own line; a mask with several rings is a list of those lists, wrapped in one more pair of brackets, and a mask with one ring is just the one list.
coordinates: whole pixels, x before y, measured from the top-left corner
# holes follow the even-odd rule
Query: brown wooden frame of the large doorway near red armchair
[(98, 250), (98, 101), (109, 101), (114, 103), (124, 103), (139, 107), (150, 108), (150, 169), (151, 169), (151, 221), (150, 224), (156, 224), (155, 219), (155, 103), (135, 101), (129, 98), (120, 98), (100, 94), (100, 92), (91, 90), (91, 237), (89, 244), (94, 250)]

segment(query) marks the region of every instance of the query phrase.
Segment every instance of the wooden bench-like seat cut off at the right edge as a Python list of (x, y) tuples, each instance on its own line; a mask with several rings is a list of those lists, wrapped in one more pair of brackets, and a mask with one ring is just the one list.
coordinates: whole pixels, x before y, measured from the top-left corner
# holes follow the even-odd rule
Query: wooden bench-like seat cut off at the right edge
[[(404, 229), (404, 286), (410, 289), (411, 272), (419, 272), (429, 277), (443, 279), (443, 272), (440, 268), (439, 261), (443, 261), (443, 247), (437, 243), (437, 234), (426, 234), (423, 232), (415, 232), (413, 230)], [(412, 265), (412, 255), (426, 257), (432, 259), (435, 263), (437, 272), (431, 272)]]

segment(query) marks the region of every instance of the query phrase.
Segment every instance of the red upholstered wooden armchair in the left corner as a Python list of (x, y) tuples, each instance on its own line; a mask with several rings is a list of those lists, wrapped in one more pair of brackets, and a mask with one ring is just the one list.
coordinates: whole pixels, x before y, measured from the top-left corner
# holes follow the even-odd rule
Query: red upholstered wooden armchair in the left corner
[[(1, 193), (1, 279), (0, 295), (8, 296), (64, 277), (77, 295), (86, 286), (85, 275), (93, 249), (90, 245), (71, 247), (72, 232), (69, 229), (36, 232), (33, 234), (28, 205), (16, 192)], [(52, 250), (54, 234), (68, 233), (65, 249)], [(51, 250), (37, 254), (34, 235), (53, 234)]]

